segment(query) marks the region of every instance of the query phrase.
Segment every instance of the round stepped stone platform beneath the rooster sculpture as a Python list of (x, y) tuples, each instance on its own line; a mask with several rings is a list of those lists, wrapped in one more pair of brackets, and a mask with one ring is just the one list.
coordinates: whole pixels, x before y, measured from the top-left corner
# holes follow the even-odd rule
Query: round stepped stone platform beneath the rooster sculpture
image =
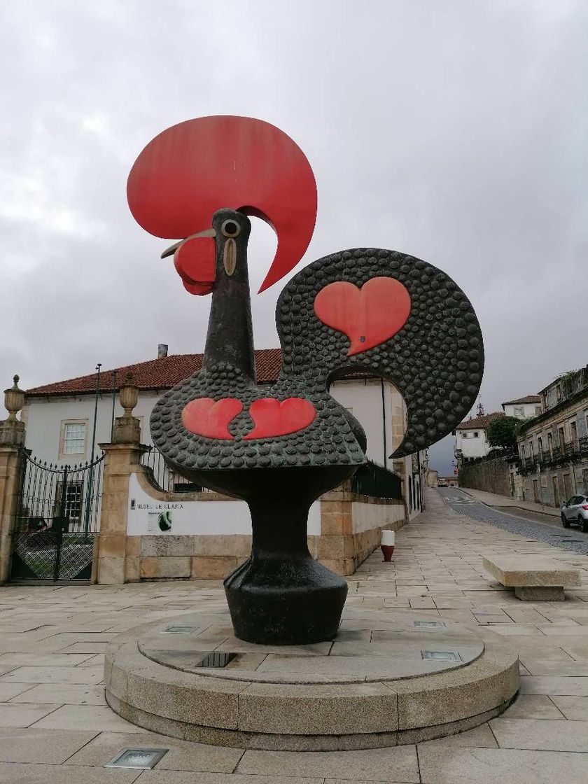
[(332, 642), (255, 645), (227, 613), (176, 615), (109, 644), (109, 705), (163, 735), (268, 750), (394, 746), (510, 705), (517, 654), (490, 630), (410, 611), (343, 613)]

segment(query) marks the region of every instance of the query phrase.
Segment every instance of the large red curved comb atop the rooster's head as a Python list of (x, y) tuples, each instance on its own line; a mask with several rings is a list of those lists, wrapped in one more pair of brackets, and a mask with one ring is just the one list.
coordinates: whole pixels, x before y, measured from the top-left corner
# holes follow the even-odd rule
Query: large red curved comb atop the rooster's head
[(265, 220), (278, 249), (260, 292), (296, 267), (317, 217), (306, 155), (275, 125), (249, 117), (202, 117), (162, 131), (132, 166), (127, 198), (137, 223), (166, 239), (209, 228), (217, 209)]

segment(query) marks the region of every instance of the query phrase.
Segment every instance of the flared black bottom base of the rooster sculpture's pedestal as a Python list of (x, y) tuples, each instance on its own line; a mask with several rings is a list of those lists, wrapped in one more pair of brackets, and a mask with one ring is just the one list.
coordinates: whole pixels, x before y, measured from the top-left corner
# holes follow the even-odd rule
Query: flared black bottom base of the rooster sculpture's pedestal
[(347, 583), (308, 554), (250, 557), (224, 581), (234, 633), (266, 645), (332, 640)]

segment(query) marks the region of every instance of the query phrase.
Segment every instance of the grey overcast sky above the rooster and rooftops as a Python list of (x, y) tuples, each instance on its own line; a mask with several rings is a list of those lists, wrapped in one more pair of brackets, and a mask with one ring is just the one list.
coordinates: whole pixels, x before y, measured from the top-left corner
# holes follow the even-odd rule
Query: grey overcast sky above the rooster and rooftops
[[(4, 0), (0, 383), (203, 349), (210, 299), (159, 260), (125, 183), (153, 136), (206, 114), (307, 154), (299, 267), (371, 245), (456, 280), (487, 412), (586, 365), (587, 40), (585, 0)], [(255, 220), (255, 290), (274, 248)], [(278, 345), (280, 289), (253, 296), (257, 348)]]

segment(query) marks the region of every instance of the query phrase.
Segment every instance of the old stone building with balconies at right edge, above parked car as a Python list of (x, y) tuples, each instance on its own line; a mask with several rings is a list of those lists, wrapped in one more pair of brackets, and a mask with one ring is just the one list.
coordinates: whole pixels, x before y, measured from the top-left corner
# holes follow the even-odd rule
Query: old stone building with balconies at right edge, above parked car
[(559, 507), (588, 493), (588, 366), (555, 379), (539, 398), (542, 412), (517, 438), (512, 484), (517, 498)]

